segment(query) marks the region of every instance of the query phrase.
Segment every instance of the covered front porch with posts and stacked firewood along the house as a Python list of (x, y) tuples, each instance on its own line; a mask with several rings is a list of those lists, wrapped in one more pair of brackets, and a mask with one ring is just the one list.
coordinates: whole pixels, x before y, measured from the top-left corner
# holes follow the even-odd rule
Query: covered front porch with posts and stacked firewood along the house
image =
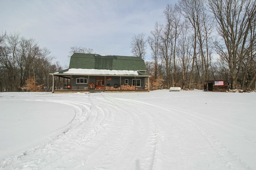
[(52, 93), (149, 92), (145, 75), (52, 74)]

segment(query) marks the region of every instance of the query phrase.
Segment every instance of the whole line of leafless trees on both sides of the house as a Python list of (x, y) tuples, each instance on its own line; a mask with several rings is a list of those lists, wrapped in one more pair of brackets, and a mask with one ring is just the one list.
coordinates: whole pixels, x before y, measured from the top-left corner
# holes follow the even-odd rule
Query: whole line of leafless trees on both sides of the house
[[(230, 80), (232, 89), (256, 89), (255, 0), (180, 0), (168, 4), (163, 16), (164, 23), (156, 22), (148, 37), (134, 35), (131, 42), (137, 57), (144, 58), (150, 48), (146, 67), (152, 89), (202, 89), (206, 80)], [(70, 55), (74, 52), (93, 50), (73, 47)], [(34, 39), (0, 35), (0, 91), (21, 91), (30, 77), (50, 91), (49, 73), (59, 70), (50, 51)]]

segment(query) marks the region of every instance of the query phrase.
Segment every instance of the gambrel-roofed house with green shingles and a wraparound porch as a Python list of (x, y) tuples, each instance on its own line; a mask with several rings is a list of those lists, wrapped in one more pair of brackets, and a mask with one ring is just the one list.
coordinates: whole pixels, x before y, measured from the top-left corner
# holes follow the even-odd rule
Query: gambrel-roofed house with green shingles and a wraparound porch
[[(149, 92), (146, 65), (140, 57), (74, 53), (69, 68), (52, 75), (52, 92)], [(63, 79), (60, 87), (54, 80)]]

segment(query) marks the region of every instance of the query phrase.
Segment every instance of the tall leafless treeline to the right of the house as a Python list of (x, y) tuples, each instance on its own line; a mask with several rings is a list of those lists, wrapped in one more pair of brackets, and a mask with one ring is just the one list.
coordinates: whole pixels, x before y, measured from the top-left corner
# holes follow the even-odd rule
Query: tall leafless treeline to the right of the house
[[(152, 89), (203, 88), (205, 80), (230, 80), (231, 88), (256, 88), (256, 1), (180, 0), (132, 38), (132, 53), (145, 56), (149, 45)], [(158, 83), (161, 82), (161, 83)]]

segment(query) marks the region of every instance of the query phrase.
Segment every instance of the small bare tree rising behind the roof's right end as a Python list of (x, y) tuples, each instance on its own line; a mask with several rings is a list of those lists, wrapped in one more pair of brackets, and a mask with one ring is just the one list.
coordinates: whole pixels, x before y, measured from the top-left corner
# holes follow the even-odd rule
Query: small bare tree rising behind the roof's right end
[(132, 54), (142, 59), (144, 59), (146, 55), (146, 49), (147, 49), (147, 44), (146, 44), (147, 41), (144, 40), (144, 37), (145, 37), (144, 33), (134, 35), (132, 37), (132, 42), (131, 42)]

